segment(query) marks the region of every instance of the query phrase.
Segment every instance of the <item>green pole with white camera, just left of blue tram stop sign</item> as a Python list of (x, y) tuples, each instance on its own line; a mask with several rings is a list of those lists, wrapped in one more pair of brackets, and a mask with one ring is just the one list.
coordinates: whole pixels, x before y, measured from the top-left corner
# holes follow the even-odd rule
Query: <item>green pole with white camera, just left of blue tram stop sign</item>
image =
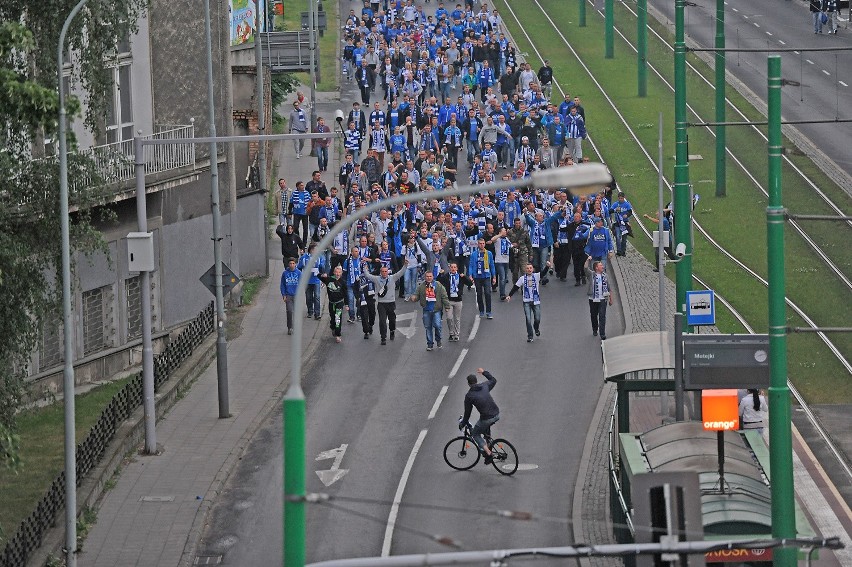
[[(675, 0), (675, 244), (686, 253), (675, 269), (676, 312), (686, 309), (686, 292), (692, 288), (692, 198), (689, 191), (689, 136), (686, 130), (686, 41), (683, 11), (685, 0)], [(662, 220), (662, 219), (660, 219)]]

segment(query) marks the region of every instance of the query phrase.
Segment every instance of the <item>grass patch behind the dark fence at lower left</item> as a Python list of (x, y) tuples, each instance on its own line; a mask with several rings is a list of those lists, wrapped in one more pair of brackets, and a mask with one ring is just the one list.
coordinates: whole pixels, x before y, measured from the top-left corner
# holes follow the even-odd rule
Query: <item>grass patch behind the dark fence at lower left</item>
[[(76, 439), (79, 443), (97, 423), (112, 397), (127, 383), (123, 378), (76, 397)], [(0, 469), (0, 526), (6, 537), (35, 510), (53, 479), (62, 471), (64, 412), (61, 402), (27, 410), (18, 418), (21, 465), (17, 474)]]

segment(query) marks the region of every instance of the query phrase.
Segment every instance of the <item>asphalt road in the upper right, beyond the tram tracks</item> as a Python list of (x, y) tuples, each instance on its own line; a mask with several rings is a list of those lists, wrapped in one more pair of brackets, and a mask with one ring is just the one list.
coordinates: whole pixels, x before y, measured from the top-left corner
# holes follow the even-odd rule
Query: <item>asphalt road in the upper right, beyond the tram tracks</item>
[[(649, 4), (674, 21), (674, 2), (649, 0)], [(703, 47), (712, 47), (716, 36), (716, 2), (694, 0), (686, 8), (686, 34)], [(728, 48), (811, 49), (852, 48), (852, 29), (840, 22), (836, 35), (823, 28), (814, 34), (808, 3), (802, 0), (752, 0), (725, 3), (725, 36)], [(843, 18), (849, 15), (843, 10)], [(762, 100), (766, 100), (766, 52), (727, 54), (727, 69)], [(852, 51), (800, 51), (781, 53), (784, 120), (834, 120), (852, 118)], [(688, 96), (688, 95), (687, 95)], [(712, 116), (704, 117), (713, 120)], [(739, 121), (728, 109), (728, 120)], [(847, 174), (852, 175), (852, 125), (799, 124), (796, 126)]]

